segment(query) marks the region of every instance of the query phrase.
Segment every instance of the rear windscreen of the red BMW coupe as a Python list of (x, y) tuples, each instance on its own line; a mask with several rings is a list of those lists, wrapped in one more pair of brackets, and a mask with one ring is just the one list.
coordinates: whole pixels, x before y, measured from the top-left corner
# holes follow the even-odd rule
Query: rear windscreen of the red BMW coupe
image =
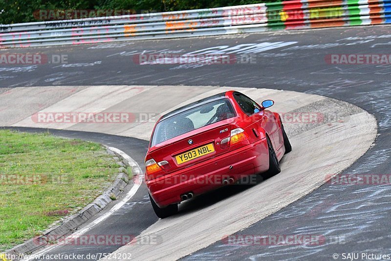
[(157, 124), (151, 146), (235, 116), (234, 108), (228, 99), (220, 99), (180, 112)]

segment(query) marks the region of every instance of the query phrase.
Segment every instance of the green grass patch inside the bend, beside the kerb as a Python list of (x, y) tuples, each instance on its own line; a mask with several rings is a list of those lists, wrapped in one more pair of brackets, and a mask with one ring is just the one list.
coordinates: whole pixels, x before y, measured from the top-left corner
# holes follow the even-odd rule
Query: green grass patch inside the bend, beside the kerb
[(0, 130), (0, 252), (91, 203), (118, 167), (96, 143)]

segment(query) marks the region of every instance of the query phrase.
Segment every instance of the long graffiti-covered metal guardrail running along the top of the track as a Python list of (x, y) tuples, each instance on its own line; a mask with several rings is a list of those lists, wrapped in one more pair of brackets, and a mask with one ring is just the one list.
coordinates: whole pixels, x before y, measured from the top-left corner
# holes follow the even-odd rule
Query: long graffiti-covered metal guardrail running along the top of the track
[(292, 0), (0, 25), (0, 48), (170, 39), (391, 23), (391, 0)]

